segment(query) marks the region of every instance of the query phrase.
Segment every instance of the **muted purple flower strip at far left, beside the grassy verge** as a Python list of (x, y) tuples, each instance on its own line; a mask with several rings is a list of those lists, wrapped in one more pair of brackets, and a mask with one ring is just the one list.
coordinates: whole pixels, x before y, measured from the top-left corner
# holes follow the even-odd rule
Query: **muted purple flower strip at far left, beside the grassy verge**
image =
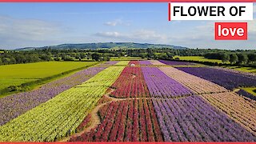
[(48, 101), (50, 98), (54, 98), (54, 96), (62, 93), (62, 91), (85, 82), (104, 69), (105, 67), (90, 67), (72, 74), (69, 77), (47, 83), (37, 90), (0, 98), (0, 126), (24, 114), (26, 111), (33, 109), (35, 106)]

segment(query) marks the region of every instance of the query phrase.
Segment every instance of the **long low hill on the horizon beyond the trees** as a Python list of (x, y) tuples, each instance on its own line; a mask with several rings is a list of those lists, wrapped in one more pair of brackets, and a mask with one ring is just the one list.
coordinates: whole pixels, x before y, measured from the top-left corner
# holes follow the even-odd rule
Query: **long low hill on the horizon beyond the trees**
[(182, 46), (171, 46), (161, 44), (149, 44), (149, 43), (134, 43), (134, 42), (99, 42), (99, 43), (79, 43), (79, 44), (62, 44), (57, 46), (42, 46), (42, 47), (25, 47), (16, 50), (40, 50), (40, 49), (147, 49), (147, 48), (170, 48), (177, 50), (187, 49)]

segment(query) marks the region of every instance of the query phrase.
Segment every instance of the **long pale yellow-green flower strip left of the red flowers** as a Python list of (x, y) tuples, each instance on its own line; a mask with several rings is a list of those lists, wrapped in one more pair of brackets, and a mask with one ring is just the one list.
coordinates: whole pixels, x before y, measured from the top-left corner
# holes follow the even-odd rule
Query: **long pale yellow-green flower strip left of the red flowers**
[(0, 126), (0, 142), (51, 142), (74, 134), (123, 69), (124, 66), (110, 66)]

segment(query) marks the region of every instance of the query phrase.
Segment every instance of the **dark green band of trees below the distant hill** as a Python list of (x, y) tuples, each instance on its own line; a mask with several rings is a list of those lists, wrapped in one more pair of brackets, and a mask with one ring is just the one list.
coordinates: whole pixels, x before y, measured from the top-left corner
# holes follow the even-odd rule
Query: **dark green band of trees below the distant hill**
[[(46, 62), (46, 61), (109, 61), (111, 57), (141, 57), (147, 59), (173, 60), (178, 56), (203, 56), (220, 59), (239, 66), (255, 66), (256, 50), (217, 50), (217, 49), (98, 49), (98, 50), (0, 50), (0, 65)], [(176, 59), (178, 60), (178, 59)]]

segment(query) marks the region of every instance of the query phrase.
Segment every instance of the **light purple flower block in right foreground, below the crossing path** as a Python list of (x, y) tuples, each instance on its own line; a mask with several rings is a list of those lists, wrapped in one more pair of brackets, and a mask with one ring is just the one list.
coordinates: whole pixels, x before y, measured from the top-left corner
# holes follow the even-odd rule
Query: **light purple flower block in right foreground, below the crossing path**
[(153, 100), (164, 141), (255, 142), (238, 123), (210, 106), (201, 97)]

